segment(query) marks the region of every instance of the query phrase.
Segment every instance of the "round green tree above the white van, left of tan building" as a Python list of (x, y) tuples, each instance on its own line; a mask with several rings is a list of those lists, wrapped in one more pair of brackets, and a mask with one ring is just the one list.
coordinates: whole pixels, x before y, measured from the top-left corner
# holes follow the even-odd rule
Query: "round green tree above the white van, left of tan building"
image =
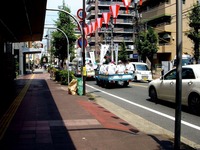
[(153, 55), (158, 51), (158, 34), (152, 27), (139, 33), (136, 39), (136, 49), (143, 62), (150, 60), (151, 69), (153, 69)]

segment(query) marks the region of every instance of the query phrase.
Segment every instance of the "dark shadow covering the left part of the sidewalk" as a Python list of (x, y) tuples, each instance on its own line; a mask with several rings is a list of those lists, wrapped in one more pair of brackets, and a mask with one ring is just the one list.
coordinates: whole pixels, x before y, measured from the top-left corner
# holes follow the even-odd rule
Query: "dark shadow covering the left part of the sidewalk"
[[(6, 130), (3, 138), (0, 140), (2, 150), (36, 150), (36, 149), (70, 149), (75, 150), (74, 143), (69, 135), (67, 128), (64, 126), (62, 117), (55, 103), (55, 99), (44, 79), (32, 79), (32, 82), (23, 97), (23, 100), (18, 103), (16, 96), (23, 89), (24, 85), (30, 80), (30, 76), (24, 76), (24, 79), (17, 79), (12, 85), (9, 85), (3, 92), (4, 99), (1, 99), (1, 118), (8, 113), (13, 117), (8, 117), (8, 128), (0, 126), (0, 130)], [(12, 89), (11, 89), (12, 87)], [(15, 106), (13, 105), (13, 106)], [(10, 110), (9, 110), (10, 109)], [(9, 111), (7, 111), (9, 110)], [(60, 124), (51, 124), (53, 121), (60, 120)]]

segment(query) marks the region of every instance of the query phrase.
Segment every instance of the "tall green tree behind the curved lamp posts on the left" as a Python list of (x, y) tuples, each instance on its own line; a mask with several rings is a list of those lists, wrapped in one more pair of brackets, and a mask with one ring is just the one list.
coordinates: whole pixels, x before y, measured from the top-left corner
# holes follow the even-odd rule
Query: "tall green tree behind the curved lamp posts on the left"
[[(59, 6), (59, 9), (62, 9), (67, 12), (71, 12), (71, 10), (66, 7), (64, 4), (63, 6)], [(52, 32), (52, 54), (54, 57), (58, 58), (62, 62), (68, 57), (68, 44), (69, 44), (69, 54), (70, 56), (74, 55), (74, 46), (75, 41), (77, 39), (75, 35), (75, 28), (77, 25), (74, 23), (75, 21), (70, 17), (70, 15), (64, 12), (58, 12), (58, 19), (55, 21), (56, 27), (61, 29), (67, 36), (69, 43), (67, 43), (65, 35), (55, 30)], [(63, 66), (63, 63), (61, 64)]]

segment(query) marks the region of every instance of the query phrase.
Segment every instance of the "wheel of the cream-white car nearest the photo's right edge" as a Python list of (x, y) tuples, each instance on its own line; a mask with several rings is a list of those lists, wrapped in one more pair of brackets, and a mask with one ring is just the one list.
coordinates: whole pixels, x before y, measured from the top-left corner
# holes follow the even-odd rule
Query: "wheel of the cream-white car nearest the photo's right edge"
[(200, 96), (193, 93), (189, 96), (189, 109), (193, 114), (200, 115)]

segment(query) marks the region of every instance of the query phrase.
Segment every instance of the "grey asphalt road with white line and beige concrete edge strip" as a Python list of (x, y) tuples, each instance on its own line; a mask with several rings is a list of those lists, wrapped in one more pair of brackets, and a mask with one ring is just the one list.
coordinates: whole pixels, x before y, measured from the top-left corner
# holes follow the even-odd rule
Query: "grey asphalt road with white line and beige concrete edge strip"
[[(147, 82), (131, 82), (125, 88), (105, 89), (95, 81), (86, 82), (87, 93), (94, 94), (98, 103), (115, 111), (122, 119), (145, 132), (162, 132), (173, 138), (175, 106), (168, 102), (155, 104), (150, 101), (147, 86)], [(200, 148), (200, 117), (190, 114), (186, 107), (182, 107), (181, 115), (182, 141)]]

